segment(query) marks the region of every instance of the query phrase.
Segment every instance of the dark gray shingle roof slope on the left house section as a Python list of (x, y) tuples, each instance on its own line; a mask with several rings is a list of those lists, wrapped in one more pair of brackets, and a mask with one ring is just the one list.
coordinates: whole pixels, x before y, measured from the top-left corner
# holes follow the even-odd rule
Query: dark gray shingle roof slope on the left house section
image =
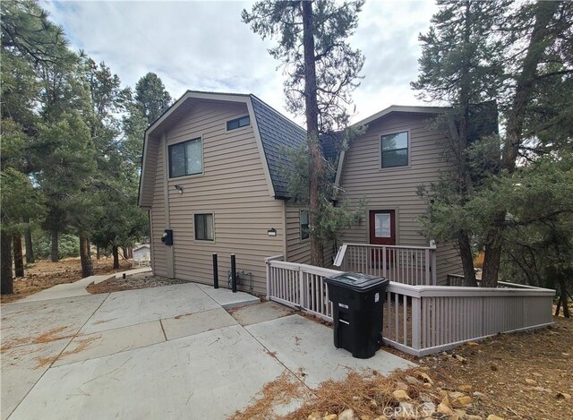
[(298, 148), (306, 143), (306, 132), (297, 124), (282, 116), (261, 99), (251, 95), (252, 110), (259, 126), (262, 148), (269, 165), (270, 179), (275, 189), (276, 198), (289, 196), (286, 182), (281, 176), (282, 168), (287, 159), (282, 151), (288, 148)]

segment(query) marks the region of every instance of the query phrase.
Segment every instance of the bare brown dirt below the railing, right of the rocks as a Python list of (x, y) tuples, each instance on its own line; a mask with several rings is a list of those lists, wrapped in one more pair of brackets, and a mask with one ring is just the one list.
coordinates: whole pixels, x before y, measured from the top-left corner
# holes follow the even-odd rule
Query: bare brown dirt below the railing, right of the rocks
[[(573, 320), (550, 329), (505, 334), (418, 360), (451, 389), (486, 395), (482, 414), (511, 419), (573, 418)], [(459, 356), (459, 357), (458, 357)]]

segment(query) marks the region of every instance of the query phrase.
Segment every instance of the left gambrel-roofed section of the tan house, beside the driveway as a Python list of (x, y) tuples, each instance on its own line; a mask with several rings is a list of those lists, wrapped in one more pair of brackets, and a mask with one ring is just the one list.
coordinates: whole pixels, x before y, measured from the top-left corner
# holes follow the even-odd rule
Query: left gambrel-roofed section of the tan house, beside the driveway
[(264, 294), (265, 258), (310, 261), (308, 211), (288, 202), (281, 175), (283, 148), (305, 141), (253, 95), (187, 91), (145, 133), (139, 205), (153, 272), (212, 284), (218, 253), (225, 284), (235, 253), (239, 289)]

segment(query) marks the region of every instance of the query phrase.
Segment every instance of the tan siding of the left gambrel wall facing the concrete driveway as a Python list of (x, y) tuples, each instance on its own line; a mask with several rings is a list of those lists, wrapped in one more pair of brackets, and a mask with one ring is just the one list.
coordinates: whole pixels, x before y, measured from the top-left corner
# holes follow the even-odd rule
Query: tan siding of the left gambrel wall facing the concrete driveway
[[(247, 114), (245, 104), (198, 102), (167, 132), (168, 145), (201, 137), (203, 147), (203, 174), (176, 177), (167, 183), (175, 278), (212, 284), (212, 253), (218, 253), (219, 283), (226, 287), (230, 254), (235, 253), (237, 270), (252, 272), (253, 291), (264, 294), (264, 259), (284, 253), (284, 204), (269, 196), (252, 127), (227, 132), (227, 120)], [(166, 167), (162, 162), (159, 166)], [(183, 186), (184, 193), (178, 193), (175, 184)], [(153, 208), (163, 210), (163, 195), (158, 193), (162, 184), (158, 182), (155, 188)], [(213, 213), (213, 242), (194, 239), (195, 213)], [(154, 227), (160, 224), (155, 216)], [(278, 236), (268, 236), (271, 227)], [(165, 248), (159, 244), (156, 249)], [(156, 260), (161, 260), (159, 253)], [(248, 290), (248, 285), (239, 289)]]

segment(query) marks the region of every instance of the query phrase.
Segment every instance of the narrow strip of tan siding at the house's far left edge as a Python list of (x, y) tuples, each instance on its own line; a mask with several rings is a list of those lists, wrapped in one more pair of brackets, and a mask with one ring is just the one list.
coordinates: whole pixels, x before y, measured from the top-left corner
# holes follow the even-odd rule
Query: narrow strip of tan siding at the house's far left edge
[[(163, 194), (163, 153), (159, 147), (155, 148), (155, 161), (157, 169), (155, 172), (155, 183), (153, 188), (153, 204), (150, 210), (151, 216), (151, 261), (153, 273), (158, 276), (167, 277), (167, 247), (161, 242), (163, 231), (167, 228), (165, 219), (165, 199)], [(146, 169), (147, 170), (147, 169)]]

